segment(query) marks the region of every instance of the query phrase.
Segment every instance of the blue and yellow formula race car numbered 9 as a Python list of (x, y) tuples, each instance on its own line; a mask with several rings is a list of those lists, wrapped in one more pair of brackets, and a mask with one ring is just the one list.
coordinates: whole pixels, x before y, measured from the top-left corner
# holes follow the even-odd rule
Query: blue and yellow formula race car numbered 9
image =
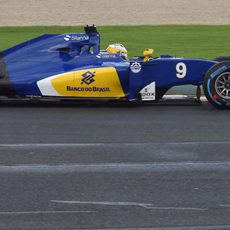
[(159, 101), (168, 89), (200, 86), (208, 101), (230, 108), (230, 58), (125, 60), (100, 50), (95, 26), (85, 33), (42, 35), (0, 53), (0, 95), (16, 98)]

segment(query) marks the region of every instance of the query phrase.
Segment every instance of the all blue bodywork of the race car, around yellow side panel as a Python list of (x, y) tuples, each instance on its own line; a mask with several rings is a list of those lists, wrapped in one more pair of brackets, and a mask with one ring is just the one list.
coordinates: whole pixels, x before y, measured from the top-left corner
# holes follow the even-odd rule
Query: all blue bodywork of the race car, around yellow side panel
[[(126, 61), (118, 54), (100, 51), (99, 33), (43, 35), (1, 52), (0, 57), (6, 68), (2, 75), (7, 75), (2, 79), (8, 79), (15, 95), (42, 96), (37, 81), (49, 76), (89, 68), (115, 67), (125, 97), (129, 100), (137, 99), (140, 90), (152, 82), (156, 83), (156, 92), (160, 88), (177, 85), (201, 85), (205, 73), (217, 63), (171, 56), (161, 56), (148, 62), (140, 58)], [(138, 73), (132, 71), (133, 63), (141, 66)], [(177, 77), (178, 63), (186, 66), (183, 78)]]

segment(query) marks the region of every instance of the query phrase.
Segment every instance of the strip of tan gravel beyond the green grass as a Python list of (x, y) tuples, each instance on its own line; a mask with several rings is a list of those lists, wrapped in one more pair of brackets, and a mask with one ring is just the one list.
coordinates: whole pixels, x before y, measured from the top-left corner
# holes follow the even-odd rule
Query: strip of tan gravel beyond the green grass
[(0, 25), (230, 24), (229, 0), (0, 0)]

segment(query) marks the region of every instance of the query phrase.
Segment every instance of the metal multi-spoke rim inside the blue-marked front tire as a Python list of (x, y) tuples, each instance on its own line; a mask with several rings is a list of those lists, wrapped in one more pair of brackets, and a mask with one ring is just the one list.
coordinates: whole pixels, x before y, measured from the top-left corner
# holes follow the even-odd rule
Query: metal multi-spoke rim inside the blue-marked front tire
[(223, 73), (216, 79), (215, 90), (221, 98), (230, 100), (230, 72)]

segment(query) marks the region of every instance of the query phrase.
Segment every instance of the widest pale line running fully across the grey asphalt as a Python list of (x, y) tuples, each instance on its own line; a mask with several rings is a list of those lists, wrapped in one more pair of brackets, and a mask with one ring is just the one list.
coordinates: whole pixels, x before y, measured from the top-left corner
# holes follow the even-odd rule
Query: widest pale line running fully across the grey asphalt
[(89, 164), (17, 164), (0, 165), (0, 173), (76, 173), (76, 172), (178, 172), (178, 171), (226, 171), (228, 162), (165, 162), (165, 163), (89, 163)]

